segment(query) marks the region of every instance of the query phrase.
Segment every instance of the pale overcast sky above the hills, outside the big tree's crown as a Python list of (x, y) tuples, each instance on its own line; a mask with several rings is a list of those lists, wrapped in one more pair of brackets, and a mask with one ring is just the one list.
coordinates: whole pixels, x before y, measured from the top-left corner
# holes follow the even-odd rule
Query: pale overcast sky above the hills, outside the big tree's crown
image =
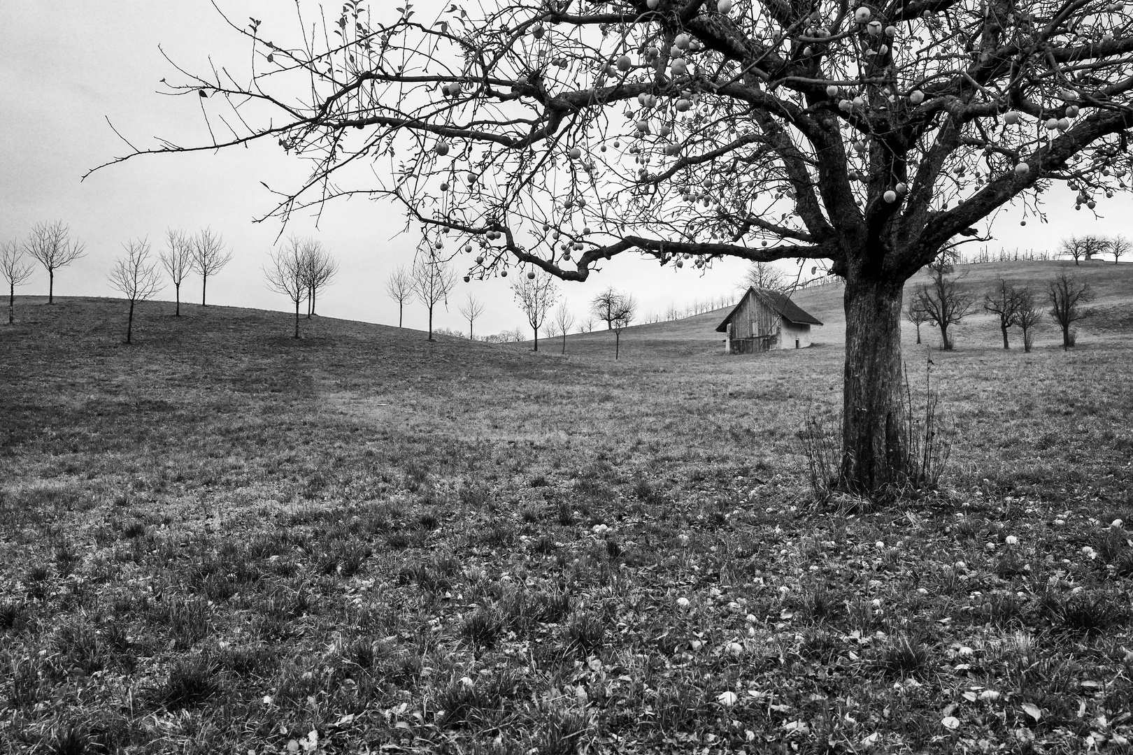
[[(295, 24), (292, 3), (279, 0), (218, 0), (236, 19), (264, 22), (263, 28)], [(310, 9), (316, 3), (305, 5)], [(375, 8), (385, 7), (374, 3)], [(389, 3), (393, 5), (393, 3)], [(331, 12), (335, 3), (327, 6)], [(178, 65), (204, 70), (210, 57), (218, 66), (245, 63), (249, 50), (206, 0), (154, 2), (118, 0), (49, 7), (33, 0), (5, 2), (0, 25), (0, 238), (23, 238), (40, 221), (62, 220), (86, 243), (87, 256), (56, 277), (60, 295), (117, 295), (107, 283), (121, 243), (147, 237), (162, 247), (165, 229), (195, 231), (211, 226), (233, 251), (233, 261), (210, 281), (211, 303), (265, 309), (288, 308), (288, 301), (263, 283), (263, 263), (280, 232), (278, 221), (254, 223), (274, 205), (261, 185), (291, 185), (305, 177), (305, 165), (279, 149), (232, 149), (218, 154), (140, 157), (104, 169), (86, 181), (80, 175), (128, 147), (108, 125), (135, 145), (161, 136), (180, 144), (203, 143), (207, 131), (199, 104), (190, 97), (157, 94), (163, 77), (177, 71), (159, 45)], [(996, 221), (997, 240), (1007, 248), (1043, 248), (1063, 235), (1117, 233), (1130, 216), (1128, 196), (1101, 199), (1096, 221), (1084, 208), (1074, 212), (1072, 192), (1050, 192), (1051, 225), (1034, 221), (1020, 226), (1017, 211)], [(327, 206), (318, 228), (309, 217), (291, 221), (288, 232), (315, 235), (340, 260), (341, 273), (320, 306), (320, 314), (373, 323), (397, 323), (397, 307), (384, 293), (390, 271), (412, 260), (417, 237), (400, 234), (403, 220), (387, 204), (352, 199)], [(462, 269), (462, 268), (461, 268)], [(662, 311), (670, 302), (685, 306), (698, 298), (729, 292), (744, 265), (732, 260), (700, 274), (689, 266), (674, 271), (622, 255), (585, 284), (561, 288), (573, 309), (607, 285), (632, 291), (644, 311)], [(42, 269), (18, 293), (46, 293)], [(199, 282), (189, 280), (182, 299), (199, 301)], [(462, 327), (455, 303), (471, 291), (487, 304), (477, 329), (497, 332), (522, 324), (503, 281), (461, 283), (450, 311), (436, 324)], [(162, 298), (172, 299), (169, 286)], [(406, 325), (424, 327), (420, 304), (410, 304)]]

